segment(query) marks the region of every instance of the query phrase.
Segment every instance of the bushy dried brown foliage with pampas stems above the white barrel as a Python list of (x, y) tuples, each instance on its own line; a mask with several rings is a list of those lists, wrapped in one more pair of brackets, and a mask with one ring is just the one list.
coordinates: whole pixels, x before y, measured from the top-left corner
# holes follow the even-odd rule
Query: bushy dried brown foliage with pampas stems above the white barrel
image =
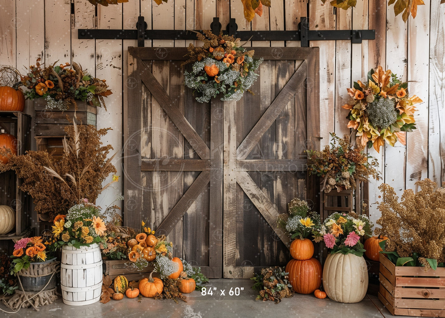
[[(94, 203), (103, 189), (102, 182), (116, 168), (107, 159), (111, 145), (103, 146), (101, 137), (108, 129), (94, 126), (65, 127), (64, 153), (60, 160), (48, 151), (28, 151), (26, 155), (7, 154), (7, 164), (0, 163), (0, 171), (14, 170), (23, 183), (20, 189), (29, 193), (38, 213), (53, 218), (66, 214), (73, 204), (86, 198)], [(5, 151), (0, 151), (5, 155)]]

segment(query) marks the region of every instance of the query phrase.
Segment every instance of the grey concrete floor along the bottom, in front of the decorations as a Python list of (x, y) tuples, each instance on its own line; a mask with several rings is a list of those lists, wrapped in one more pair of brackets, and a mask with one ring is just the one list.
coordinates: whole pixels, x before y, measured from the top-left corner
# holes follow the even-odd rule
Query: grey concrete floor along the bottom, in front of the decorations
[[(22, 308), (16, 314), (0, 311), (0, 317), (10, 318), (388, 318), (392, 316), (382, 303), (374, 296), (366, 296), (364, 300), (355, 304), (343, 304), (326, 299), (317, 299), (314, 295), (294, 294), (292, 298), (284, 298), (275, 305), (274, 302), (255, 301), (257, 295), (251, 289), (252, 281), (248, 279), (210, 279), (207, 287), (215, 287), (213, 296), (198, 291), (187, 295), (187, 302), (176, 304), (171, 299), (154, 300), (142, 298), (124, 298), (121, 301), (111, 300), (107, 304), (99, 302), (87, 306), (68, 306), (58, 299), (53, 304), (40, 307), (39, 311)], [(228, 291), (233, 287), (243, 287), (239, 296), (230, 296)], [(225, 296), (221, 296), (220, 289), (225, 289)], [(3, 304), (3, 310), (11, 311)]]

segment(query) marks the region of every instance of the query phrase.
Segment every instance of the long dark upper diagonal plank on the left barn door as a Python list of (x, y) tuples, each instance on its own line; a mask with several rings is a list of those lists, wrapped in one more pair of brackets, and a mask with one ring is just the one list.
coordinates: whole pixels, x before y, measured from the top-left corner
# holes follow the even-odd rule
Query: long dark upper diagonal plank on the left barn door
[(138, 60), (138, 69), (139, 66), (142, 82), (146, 85), (147, 89), (150, 90), (150, 93), (156, 98), (172, 122), (178, 127), (179, 131), (181, 131), (182, 135), (184, 135), (201, 159), (210, 159), (209, 147), (207, 147), (196, 130), (194, 130), (184, 115), (178, 110), (176, 102), (170, 98), (142, 60)]

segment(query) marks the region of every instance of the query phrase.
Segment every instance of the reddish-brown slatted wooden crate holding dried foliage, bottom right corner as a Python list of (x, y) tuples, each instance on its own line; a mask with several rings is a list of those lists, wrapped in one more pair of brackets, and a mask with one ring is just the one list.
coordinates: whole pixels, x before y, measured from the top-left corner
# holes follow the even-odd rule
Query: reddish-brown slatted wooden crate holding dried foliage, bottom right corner
[(445, 268), (396, 266), (380, 254), (380, 302), (393, 315), (445, 317)]

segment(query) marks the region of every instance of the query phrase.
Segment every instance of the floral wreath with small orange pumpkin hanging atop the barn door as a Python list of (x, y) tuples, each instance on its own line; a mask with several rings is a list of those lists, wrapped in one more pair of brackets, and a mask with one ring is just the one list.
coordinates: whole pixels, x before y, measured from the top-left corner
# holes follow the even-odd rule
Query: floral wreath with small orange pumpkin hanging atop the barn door
[(222, 94), (222, 101), (238, 101), (244, 91), (256, 81), (255, 70), (263, 62), (253, 59), (254, 50), (241, 47), (240, 39), (228, 35), (214, 35), (210, 30), (197, 33), (202, 47), (188, 47), (188, 60), (193, 63), (191, 72), (185, 72), (185, 85), (194, 89), (198, 102), (210, 102)]

